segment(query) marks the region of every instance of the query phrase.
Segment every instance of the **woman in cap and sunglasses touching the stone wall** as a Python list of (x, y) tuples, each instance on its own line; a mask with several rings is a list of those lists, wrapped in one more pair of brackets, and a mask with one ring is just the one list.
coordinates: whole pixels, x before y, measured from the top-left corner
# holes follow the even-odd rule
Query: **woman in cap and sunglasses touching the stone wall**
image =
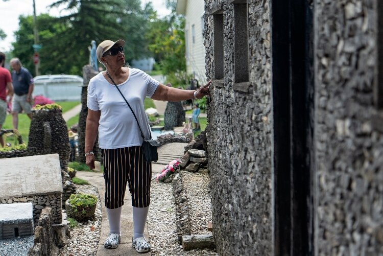
[(139, 69), (124, 67), (124, 44), (123, 40), (105, 40), (97, 47), (97, 58), (106, 71), (93, 77), (88, 85), (85, 157), (87, 166), (93, 169), (94, 156), (91, 150), (98, 133), (104, 163), (105, 206), (110, 226), (105, 248), (117, 248), (120, 242), (121, 209), (128, 185), (133, 205), (132, 244), (137, 252), (147, 252), (150, 245), (143, 237), (143, 230), (150, 205), (152, 166), (144, 160), (141, 149), (143, 139), (140, 128), (146, 138), (150, 137), (143, 100), (145, 97), (163, 101), (201, 99), (209, 94), (210, 82), (198, 91), (160, 84)]

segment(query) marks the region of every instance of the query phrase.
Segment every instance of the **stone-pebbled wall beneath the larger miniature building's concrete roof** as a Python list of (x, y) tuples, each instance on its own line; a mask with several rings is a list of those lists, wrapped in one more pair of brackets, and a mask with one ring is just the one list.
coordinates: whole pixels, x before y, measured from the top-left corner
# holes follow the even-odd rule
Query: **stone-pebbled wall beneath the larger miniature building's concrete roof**
[(0, 204), (3, 203), (28, 203), (33, 204), (33, 221), (37, 225), (41, 211), (45, 207), (50, 207), (52, 209), (52, 223), (59, 224), (62, 222), (62, 204), (61, 204), (61, 194), (50, 194), (50, 195), (36, 195), (28, 197), (15, 197), (15, 198), (5, 198), (0, 200)]

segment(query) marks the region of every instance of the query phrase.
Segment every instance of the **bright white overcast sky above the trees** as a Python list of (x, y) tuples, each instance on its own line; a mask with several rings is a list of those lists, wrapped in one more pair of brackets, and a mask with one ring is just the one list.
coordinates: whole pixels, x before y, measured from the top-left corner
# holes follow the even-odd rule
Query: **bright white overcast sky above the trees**
[[(11, 42), (15, 41), (14, 32), (18, 30), (18, 17), (20, 15), (33, 15), (33, 0), (0, 0), (0, 29), (2, 29), (7, 38), (0, 41), (0, 51), (8, 52), (11, 49)], [(46, 7), (57, 0), (35, 0), (36, 15), (40, 13), (49, 13), (51, 16), (58, 16), (58, 9), (47, 9)], [(170, 10), (165, 7), (165, 0), (141, 0), (142, 4), (152, 2), (158, 16), (163, 17), (170, 14)]]

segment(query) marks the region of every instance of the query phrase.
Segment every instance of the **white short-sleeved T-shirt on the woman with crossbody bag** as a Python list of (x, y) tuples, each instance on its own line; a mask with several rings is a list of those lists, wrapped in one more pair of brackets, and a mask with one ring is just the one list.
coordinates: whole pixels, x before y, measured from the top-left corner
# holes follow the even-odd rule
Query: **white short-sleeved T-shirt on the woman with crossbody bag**
[[(117, 84), (132, 107), (145, 138), (149, 138), (149, 124), (143, 100), (153, 96), (158, 84), (158, 81), (136, 68), (129, 68), (128, 79)], [(115, 85), (105, 79), (103, 72), (90, 79), (86, 105), (90, 110), (101, 111), (100, 148), (125, 148), (142, 144), (143, 139), (132, 111)]]

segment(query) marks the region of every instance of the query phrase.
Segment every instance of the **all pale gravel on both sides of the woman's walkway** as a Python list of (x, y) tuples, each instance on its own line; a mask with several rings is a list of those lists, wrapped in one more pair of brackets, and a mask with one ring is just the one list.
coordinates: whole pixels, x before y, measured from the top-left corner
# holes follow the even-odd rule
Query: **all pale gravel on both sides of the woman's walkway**
[[(181, 171), (181, 175), (183, 186), (186, 188), (192, 235), (211, 234), (207, 230), (207, 223), (211, 220), (209, 176), (186, 171)], [(78, 227), (70, 229), (71, 239), (64, 248), (60, 249), (60, 256), (88, 256), (97, 253), (101, 228), (100, 197), (97, 189), (92, 185), (78, 185), (77, 192), (97, 195), (99, 202), (97, 203), (95, 219), (79, 223)], [(184, 251), (182, 249), (177, 240), (175, 211), (172, 183), (153, 180), (151, 206), (147, 222), (152, 246), (151, 255), (218, 255), (215, 250)], [(0, 255), (3, 256), (1, 253)], [(9, 254), (9, 256), (13, 255), (22, 254)]]

